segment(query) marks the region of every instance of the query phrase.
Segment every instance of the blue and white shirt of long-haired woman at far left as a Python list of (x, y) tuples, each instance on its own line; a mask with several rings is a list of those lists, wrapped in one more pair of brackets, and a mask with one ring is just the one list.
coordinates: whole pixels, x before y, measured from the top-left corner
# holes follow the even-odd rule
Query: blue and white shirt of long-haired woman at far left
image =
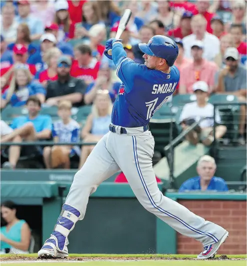
[[(3, 99), (6, 99), (8, 93), (8, 89), (6, 89), (2, 95)], [(31, 82), (22, 88), (18, 88), (12, 94), (9, 103), (12, 106), (22, 106), (25, 105), (26, 100), (29, 96), (35, 95), (37, 93), (46, 94), (46, 90), (44, 87), (38, 82)]]

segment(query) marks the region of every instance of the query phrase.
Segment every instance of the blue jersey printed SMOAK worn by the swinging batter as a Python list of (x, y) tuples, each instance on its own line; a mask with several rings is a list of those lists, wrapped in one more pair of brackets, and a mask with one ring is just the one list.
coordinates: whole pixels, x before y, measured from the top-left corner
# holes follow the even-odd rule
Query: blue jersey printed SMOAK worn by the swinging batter
[(111, 122), (123, 127), (147, 125), (179, 81), (176, 66), (170, 67), (170, 73), (164, 73), (125, 56), (118, 60), (116, 74), (122, 84), (113, 105)]

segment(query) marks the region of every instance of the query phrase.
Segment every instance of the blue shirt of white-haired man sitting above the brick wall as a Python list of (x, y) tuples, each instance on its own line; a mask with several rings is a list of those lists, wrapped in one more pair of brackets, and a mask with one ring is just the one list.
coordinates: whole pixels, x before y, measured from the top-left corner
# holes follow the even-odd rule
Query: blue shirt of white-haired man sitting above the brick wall
[[(186, 190), (201, 190), (200, 177), (195, 176), (184, 181), (178, 191), (184, 192)], [(228, 187), (224, 179), (222, 179), (221, 177), (213, 176), (206, 190), (228, 191)]]

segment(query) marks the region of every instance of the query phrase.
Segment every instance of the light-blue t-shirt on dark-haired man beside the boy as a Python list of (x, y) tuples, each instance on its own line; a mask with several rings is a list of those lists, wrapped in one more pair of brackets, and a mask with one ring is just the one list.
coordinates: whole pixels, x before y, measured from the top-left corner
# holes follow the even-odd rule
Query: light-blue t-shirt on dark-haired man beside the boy
[(44, 129), (51, 130), (52, 120), (49, 115), (37, 115), (34, 119), (30, 119), (29, 116), (18, 116), (13, 119), (11, 127), (13, 129), (19, 128), (27, 122), (32, 122), (36, 132), (41, 132)]

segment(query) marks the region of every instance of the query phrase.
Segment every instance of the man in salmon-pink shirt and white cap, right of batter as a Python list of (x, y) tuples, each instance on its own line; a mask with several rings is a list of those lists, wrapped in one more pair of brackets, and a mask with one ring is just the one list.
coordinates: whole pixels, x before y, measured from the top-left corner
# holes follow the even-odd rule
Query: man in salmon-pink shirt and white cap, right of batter
[(179, 93), (192, 93), (193, 83), (203, 80), (209, 86), (208, 92), (214, 89), (214, 75), (217, 71), (217, 65), (202, 58), (203, 43), (195, 40), (191, 46), (192, 62), (187, 63), (180, 68)]

